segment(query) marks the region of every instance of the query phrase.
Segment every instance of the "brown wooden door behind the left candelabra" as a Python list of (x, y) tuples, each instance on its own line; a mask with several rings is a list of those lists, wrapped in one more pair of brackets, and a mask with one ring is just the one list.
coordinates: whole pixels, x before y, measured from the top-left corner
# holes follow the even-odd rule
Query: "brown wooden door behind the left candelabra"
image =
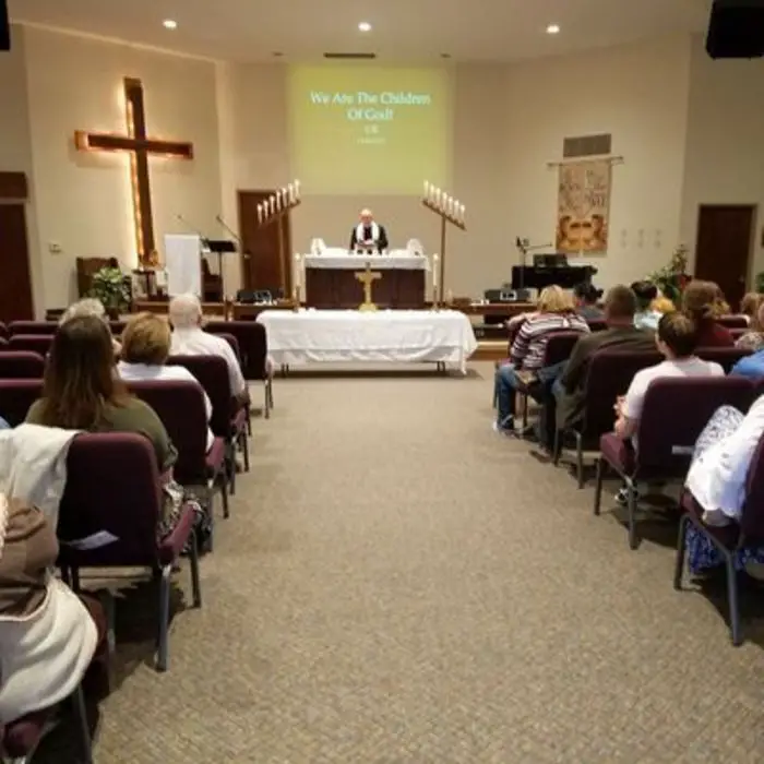
[[(239, 235), (242, 243), (241, 273), (246, 289), (268, 289), (274, 296), (291, 297), (291, 220), (289, 214), (280, 222), (261, 227), (258, 204), (273, 190), (239, 191)], [(278, 226), (282, 227), (284, 262), (278, 250)]]

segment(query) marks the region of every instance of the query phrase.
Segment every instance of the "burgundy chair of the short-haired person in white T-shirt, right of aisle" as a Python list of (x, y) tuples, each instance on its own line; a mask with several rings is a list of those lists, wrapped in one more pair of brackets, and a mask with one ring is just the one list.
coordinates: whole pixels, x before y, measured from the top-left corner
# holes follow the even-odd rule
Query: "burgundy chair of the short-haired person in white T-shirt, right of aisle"
[(628, 489), (629, 546), (637, 547), (636, 481), (683, 479), (703, 428), (717, 408), (747, 411), (753, 385), (739, 377), (655, 380), (645, 395), (636, 433), (637, 447), (608, 432), (600, 438), (594, 513), (599, 514), (602, 478), (610, 467)]

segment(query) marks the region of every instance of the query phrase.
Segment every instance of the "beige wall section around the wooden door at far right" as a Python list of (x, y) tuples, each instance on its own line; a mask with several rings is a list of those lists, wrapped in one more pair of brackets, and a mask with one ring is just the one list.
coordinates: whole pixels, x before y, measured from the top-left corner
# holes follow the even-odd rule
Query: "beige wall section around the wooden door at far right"
[(699, 38), (682, 201), (682, 238), (691, 252), (701, 204), (757, 205), (750, 276), (764, 270), (764, 61), (712, 61)]

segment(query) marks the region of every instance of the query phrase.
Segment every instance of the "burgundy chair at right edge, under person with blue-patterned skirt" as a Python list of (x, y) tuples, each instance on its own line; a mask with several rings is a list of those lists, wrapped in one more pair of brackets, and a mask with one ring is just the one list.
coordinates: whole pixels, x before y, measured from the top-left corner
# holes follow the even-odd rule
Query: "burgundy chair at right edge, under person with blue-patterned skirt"
[(706, 525), (703, 522), (703, 508), (687, 489), (682, 493), (680, 506), (683, 514), (679, 521), (673, 588), (677, 590), (682, 588), (687, 535), (688, 528), (692, 524), (719, 550), (725, 559), (730, 636), (732, 644), (738, 647), (742, 644), (742, 630), (738, 605), (738, 572), (735, 560), (740, 550), (764, 545), (764, 438), (759, 442), (748, 471), (745, 499), (739, 522), (723, 527)]

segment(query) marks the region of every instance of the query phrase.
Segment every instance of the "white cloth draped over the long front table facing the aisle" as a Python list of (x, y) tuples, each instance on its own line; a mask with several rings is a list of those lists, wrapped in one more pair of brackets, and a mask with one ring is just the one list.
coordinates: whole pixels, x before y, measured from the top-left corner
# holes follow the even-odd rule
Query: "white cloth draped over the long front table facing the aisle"
[(477, 349), (469, 319), (454, 310), (266, 310), (258, 322), (279, 366), (441, 362), (466, 372)]

